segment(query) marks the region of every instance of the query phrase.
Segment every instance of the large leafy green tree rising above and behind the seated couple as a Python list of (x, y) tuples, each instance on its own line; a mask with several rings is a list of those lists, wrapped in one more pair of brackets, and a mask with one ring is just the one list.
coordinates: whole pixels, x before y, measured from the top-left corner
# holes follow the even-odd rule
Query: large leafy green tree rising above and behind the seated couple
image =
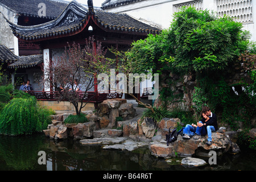
[[(127, 59), (134, 71), (162, 73), (162, 79), (170, 73), (192, 75), (197, 81), (192, 94), (195, 114), (207, 104), (222, 113), (222, 121), (246, 123), (255, 113), (256, 93), (255, 43), (249, 38), (242, 23), (229, 16), (216, 18), (208, 10), (183, 7), (170, 28), (133, 43)], [(236, 73), (245, 77), (229, 82)]]

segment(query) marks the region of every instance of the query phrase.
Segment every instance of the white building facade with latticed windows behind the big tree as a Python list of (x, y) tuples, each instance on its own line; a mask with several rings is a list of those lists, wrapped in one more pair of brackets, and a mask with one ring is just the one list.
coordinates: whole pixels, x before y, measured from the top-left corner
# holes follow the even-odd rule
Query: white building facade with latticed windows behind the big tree
[(126, 13), (160, 28), (170, 27), (173, 14), (182, 6), (195, 6), (197, 10), (210, 10), (217, 16), (229, 15), (243, 23), (256, 41), (256, 0), (107, 0), (102, 9), (113, 13)]

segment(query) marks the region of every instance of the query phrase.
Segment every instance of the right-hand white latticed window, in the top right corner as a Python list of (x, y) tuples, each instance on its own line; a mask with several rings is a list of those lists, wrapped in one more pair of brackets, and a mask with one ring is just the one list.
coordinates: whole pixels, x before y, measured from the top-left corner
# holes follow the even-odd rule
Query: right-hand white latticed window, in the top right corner
[(253, 0), (217, 0), (217, 15), (229, 15), (237, 22), (253, 22)]

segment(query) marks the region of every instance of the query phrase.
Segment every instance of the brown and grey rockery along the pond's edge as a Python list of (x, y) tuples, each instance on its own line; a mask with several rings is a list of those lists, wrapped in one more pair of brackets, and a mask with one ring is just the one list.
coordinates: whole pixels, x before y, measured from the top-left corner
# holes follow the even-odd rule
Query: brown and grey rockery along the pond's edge
[[(137, 110), (142, 112), (144, 109), (137, 107)], [(141, 113), (133, 104), (123, 99), (105, 100), (99, 105), (98, 112), (84, 113), (89, 122), (67, 124), (64, 120), (72, 113), (52, 115), (52, 124), (48, 125), (44, 134), (54, 140), (73, 138), (79, 140), (81, 145), (100, 144), (103, 150), (133, 151), (148, 147), (156, 158), (209, 157), (212, 150), (217, 155), (240, 152), (236, 143), (239, 131), (226, 131), (225, 127), (212, 134), (213, 144), (210, 146), (206, 144), (207, 136), (199, 140), (184, 140), (181, 135), (167, 146), (166, 134), (171, 126), (183, 125), (180, 119), (163, 118), (155, 125), (151, 118), (141, 118)], [(123, 121), (118, 121), (118, 118), (123, 118)], [(250, 135), (255, 137), (255, 129)]]

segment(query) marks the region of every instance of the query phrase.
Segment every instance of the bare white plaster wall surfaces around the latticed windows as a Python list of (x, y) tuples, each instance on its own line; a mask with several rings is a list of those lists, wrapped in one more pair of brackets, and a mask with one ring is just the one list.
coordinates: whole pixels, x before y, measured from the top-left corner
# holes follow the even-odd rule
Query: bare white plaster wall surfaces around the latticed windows
[[(117, 6), (105, 11), (113, 13), (126, 13), (134, 18), (147, 20), (148, 24), (155, 24), (160, 28), (170, 27), (173, 19), (174, 5), (180, 3), (191, 2), (191, 0), (146, 0), (129, 5)], [(216, 0), (203, 0), (203, 9), (213, 10), (217, 12)], [(250, 31), (252, 34), (251, 40), (256, 41), (256, 0), (253, 0), (253, 22), (243, 23), (243, 30)]]

